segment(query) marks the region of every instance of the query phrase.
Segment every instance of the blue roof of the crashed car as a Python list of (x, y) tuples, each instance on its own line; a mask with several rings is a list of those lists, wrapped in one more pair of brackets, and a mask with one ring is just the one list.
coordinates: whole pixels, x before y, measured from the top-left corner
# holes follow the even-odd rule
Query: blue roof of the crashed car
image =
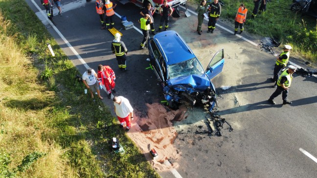
[(177, 64), (196, 57), (176, 31), (163, 31), (153, 38), (164, 51), (167, 65)]

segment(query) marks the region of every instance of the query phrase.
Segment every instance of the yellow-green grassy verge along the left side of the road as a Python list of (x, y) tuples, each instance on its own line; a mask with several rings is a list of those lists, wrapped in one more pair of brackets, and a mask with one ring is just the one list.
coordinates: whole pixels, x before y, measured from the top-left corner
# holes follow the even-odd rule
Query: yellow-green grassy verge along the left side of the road
[[(0, 9), (0, 178), (158, 178), (27, 4)], [(124, 155), (109, 149), (113, 136)]]

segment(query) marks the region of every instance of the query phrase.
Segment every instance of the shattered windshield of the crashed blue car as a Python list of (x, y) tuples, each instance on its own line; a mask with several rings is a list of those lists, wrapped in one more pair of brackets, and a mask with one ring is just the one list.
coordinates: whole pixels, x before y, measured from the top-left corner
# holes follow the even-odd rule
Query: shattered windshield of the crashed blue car
[(200, 65), (197, 58), (192, 58), (181, 63), (168, 66), (169, 78), (192, 74), (204, 74), (204, 68)]

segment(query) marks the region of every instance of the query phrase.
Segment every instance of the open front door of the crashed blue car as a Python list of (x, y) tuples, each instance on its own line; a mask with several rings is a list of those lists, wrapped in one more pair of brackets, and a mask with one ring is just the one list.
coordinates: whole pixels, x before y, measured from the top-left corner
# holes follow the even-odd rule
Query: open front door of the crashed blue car
[(224, 56), (224, 48), (222, 48), (212, 57), (206, 69), (206, 74), (208, 75), (209, 79), (214, 78), (222, 71), (225, 64)]

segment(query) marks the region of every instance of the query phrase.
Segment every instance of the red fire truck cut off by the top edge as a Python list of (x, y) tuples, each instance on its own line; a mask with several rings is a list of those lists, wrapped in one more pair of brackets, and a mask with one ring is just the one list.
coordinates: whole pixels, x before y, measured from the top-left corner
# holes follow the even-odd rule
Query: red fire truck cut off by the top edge
[[(128, 2), (135, 3), (139, 7), (146, 7), (146, 5), (150, 2), (152, 7), (158, 9), (161, 4), (163, 4), (163, 0), (118, 0), (122, 4), (126, 4)], [(186, 4), (186, 0), (167, 0), (167, 4), (172, 8), (177, 8), (181, 4)]]

